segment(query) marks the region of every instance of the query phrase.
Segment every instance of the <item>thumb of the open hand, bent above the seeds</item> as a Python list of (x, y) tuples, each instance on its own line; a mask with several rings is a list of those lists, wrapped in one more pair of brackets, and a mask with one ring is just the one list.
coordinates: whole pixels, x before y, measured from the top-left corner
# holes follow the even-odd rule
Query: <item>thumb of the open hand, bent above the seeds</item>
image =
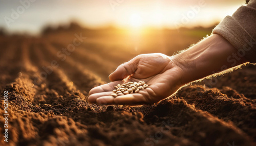
[(117, 69), (110, 74), (109, 79), (110, 81), (117, 81), (117, 80), (123, 80), (126, 77), (134, 74), (134, 72), (137, 70), (137, 66), (139, 63), (139, 59), (133, 58), (129, 62), (125, 62), (117, 67)]

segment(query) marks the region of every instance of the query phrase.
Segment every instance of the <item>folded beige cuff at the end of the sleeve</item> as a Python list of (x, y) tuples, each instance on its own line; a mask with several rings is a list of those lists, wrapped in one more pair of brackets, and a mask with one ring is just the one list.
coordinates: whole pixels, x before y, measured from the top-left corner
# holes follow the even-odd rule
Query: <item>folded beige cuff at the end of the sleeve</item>
[(256, 63), (255, 39), (231, 16), (226, 16), (212, 33), (223, 36), (237, 48), (239, 57), (244, 57), (249, 62)]

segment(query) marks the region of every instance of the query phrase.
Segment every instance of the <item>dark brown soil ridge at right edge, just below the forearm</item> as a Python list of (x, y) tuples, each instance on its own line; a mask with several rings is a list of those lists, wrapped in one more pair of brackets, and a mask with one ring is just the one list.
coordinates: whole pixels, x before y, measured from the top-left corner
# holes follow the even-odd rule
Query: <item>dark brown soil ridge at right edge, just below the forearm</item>
[(233, 125), (256, 139), (255, 101), (235, 92), (233, 97), (228, 97), (217, 88), (205, 90), (202, 86), (185, 87), (176, 96), (183, 97), (189, 104), (194, 104), (196, 108), (207, 111), (227, 123), (232, 121)]

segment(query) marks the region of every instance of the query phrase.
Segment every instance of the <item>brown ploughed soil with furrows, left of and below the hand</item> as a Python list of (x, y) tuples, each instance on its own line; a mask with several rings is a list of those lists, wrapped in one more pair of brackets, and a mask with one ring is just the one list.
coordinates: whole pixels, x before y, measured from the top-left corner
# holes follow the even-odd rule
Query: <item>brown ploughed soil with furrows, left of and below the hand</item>
[[(256, 67), (184, 87), (155, 105), (97, 106), (86, 102), (89, 90), (134, 54), (123, 58), (99, 51), (101, 46), (88, 40), (61, 61), (56, 53), (72, 36), (62, 42), (51, 37), (0, 39), (0, 145), (256, 144)], [(52, 60), (59, 66), (42, 79), (42, 66)], [(4, 91), (9, 93), (8, 142)]]

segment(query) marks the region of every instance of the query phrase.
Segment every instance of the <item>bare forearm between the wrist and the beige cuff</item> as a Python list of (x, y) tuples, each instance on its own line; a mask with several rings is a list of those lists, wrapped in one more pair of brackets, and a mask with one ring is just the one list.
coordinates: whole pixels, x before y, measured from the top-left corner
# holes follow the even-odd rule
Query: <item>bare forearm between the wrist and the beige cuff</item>
[(172, 60), (180, 66), (184, 84), (247, 62), (238, 56), (236, 48), (218, 34), (173, 56)]

